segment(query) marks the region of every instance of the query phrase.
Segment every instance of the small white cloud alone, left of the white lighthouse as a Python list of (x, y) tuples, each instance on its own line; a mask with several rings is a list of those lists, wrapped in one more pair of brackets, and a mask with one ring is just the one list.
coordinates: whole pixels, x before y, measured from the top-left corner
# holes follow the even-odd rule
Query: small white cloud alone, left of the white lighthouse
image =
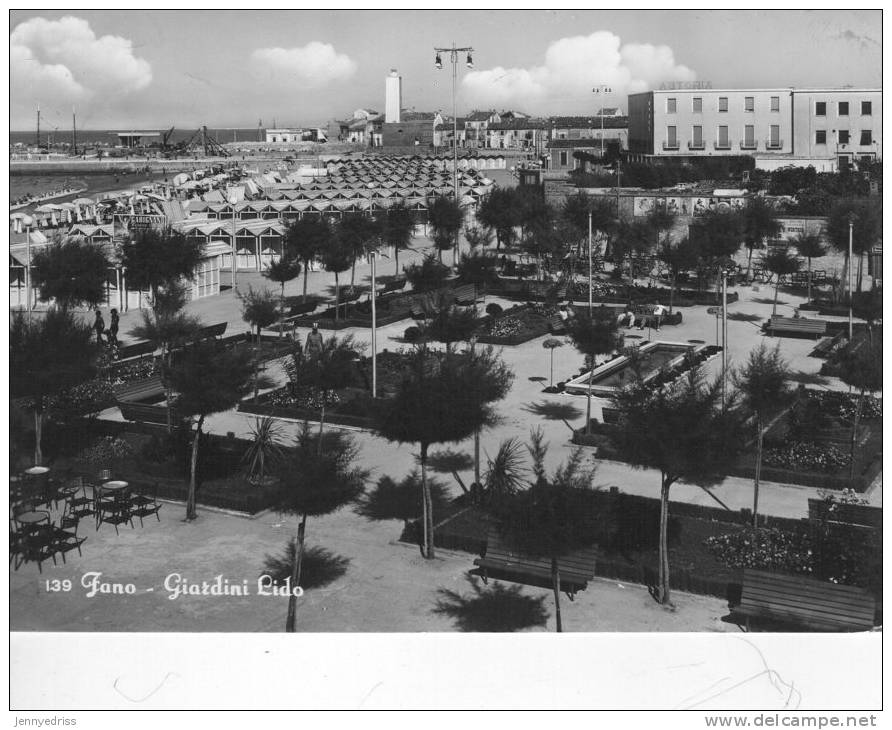
[(251, 54), (255, 78), (294, 82), (307, 88), (345, 81), (356, 73), (356, 63), (330, 43), (311, 41), (300, 48), (258, 48)]

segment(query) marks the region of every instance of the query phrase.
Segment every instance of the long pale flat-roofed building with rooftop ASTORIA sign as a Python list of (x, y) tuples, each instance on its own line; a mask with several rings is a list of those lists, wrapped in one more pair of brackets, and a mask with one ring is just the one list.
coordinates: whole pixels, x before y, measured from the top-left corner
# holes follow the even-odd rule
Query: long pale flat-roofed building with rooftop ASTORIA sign
[(629, 95), (629, 157), (749, 155), (762, 169), (882, 159), (879, 89), (673, 89)]

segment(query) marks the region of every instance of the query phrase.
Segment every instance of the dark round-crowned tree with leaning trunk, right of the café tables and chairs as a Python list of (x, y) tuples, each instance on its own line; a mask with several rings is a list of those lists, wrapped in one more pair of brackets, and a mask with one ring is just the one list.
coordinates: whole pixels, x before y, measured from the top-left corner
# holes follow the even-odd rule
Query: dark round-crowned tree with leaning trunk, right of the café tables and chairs
[(189, 347), (170, 369), (170, 380), (179, 393), (177, 408), (194, 416), (195, 436), (189, 492), (186, 497), (186, 520), (197, 517), (195, 494), (198, 488), (198, 446), (204, 420), (213, 413), (222, 413), (238, 405), (251, 389), (254, 366), (246, 350), (220, 350), (213, 342), (199, 342)]

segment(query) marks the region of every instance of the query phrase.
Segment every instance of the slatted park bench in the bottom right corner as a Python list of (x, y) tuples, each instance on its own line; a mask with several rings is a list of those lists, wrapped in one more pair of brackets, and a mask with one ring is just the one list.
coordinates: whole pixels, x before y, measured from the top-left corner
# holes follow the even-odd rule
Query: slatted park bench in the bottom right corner
[(744, 568), (740, 602), (724, 621), (749, 631), (798, 627), (809, 631), (869, 631), (876, 612), (873, 596), (863, 588), (802, 576)]

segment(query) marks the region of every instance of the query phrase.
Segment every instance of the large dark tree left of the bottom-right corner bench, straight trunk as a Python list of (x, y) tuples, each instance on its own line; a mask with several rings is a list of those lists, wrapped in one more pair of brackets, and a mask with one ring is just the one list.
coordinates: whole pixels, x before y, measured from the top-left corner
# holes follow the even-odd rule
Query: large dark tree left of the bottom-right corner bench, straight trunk
[(679, 479), (705, 486), (727, 473), (740, 448), (733, 408), (720, 409), (721, 380), (705, 385), (697, 367), (654, 390), (640, 378), (616, 397), (613, 442), (635, 468), (660, 470), (660, 540), (655, 598), (670, 602), (669, 490)]

